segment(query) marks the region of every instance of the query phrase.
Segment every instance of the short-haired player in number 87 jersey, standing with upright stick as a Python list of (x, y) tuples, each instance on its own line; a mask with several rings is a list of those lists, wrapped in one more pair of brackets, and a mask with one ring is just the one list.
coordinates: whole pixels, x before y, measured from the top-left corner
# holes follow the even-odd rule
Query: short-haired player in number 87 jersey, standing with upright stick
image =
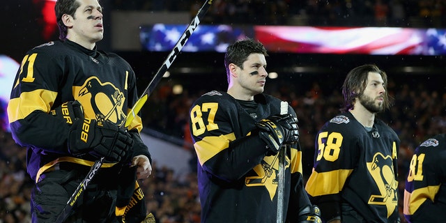
[[(286, 222), (320, 222), (302, 183), (301, 149), (294, 110), (280, 115), (280, 100), (263, 94), (266, 49), (251, 39), (227, 48), (227, 92), (210, 91), (190, 109), (198, 156), (201, 222), (276, 222), (277, 153), (286, 151)], [(285, 217), (284, 217), (285, 219)]]

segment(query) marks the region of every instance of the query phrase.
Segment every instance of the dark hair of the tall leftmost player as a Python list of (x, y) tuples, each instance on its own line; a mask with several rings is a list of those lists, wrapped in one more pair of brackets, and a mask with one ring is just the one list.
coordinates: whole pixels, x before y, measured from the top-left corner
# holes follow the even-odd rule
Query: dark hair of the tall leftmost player
[(56, 12), (57, 26), (59, 26), (59, 39), (65, 40), (67, 38), (68, 27), (63, 24), (62, 16), (64, 14), (71, 15), (75, 18), (75, 13), (77, 8), (81, 4), (77, 0), (57, 0), (56, 6), (54, 6), (54, 11)]

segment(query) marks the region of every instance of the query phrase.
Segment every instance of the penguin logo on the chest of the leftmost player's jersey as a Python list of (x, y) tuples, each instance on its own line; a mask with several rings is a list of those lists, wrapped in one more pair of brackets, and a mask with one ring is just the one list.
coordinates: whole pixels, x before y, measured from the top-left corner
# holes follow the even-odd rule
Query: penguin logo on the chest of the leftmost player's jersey
[(125, 120), (125, 97), (114, 84), (102, 83), (98, 77), (90, 77), (82, 86), (75, 86), (73, 90), (86, 117), (94, 117), (98, 121), (109, 120), (118, 125)]

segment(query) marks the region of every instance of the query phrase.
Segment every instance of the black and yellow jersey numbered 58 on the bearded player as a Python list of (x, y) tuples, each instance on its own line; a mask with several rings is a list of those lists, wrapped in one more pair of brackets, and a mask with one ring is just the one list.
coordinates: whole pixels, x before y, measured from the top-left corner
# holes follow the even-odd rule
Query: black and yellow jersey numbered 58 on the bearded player
[(341, 216), (341, 203), (367, 222), (396, 222), (399, 138), (375, 119), (371, 131), (350, 112), (339, 114), (316, 135), (314, 167), (305, 190), (325, 221)]

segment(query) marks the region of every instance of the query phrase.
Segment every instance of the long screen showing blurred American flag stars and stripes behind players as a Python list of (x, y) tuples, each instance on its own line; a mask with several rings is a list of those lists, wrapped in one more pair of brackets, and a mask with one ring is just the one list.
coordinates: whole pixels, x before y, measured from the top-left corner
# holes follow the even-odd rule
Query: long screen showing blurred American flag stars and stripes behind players
[[(185, 29), (186, 25), (144, 26), (141, 44), (149, 51), (170, 51)], [(397, 27), (200, 25), (183, 51), (224, 52), (230, 43), (245, 37), (259, 40), (269, 52), (446, 55), (446, 29)]]

